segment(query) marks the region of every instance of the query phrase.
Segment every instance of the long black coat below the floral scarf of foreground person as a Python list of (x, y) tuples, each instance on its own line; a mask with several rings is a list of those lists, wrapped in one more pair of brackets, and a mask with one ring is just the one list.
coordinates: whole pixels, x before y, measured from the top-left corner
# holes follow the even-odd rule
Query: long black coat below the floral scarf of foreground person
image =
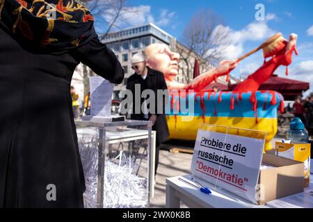
[[(0, 207), (83, 207), (85, 180), (70, 83), (79, 62), (121, 83), (124, 71), (97, 37), (69, 53), (40, 54), (0, 21)], [(56, 201), (46, 198), (56, 186)]]

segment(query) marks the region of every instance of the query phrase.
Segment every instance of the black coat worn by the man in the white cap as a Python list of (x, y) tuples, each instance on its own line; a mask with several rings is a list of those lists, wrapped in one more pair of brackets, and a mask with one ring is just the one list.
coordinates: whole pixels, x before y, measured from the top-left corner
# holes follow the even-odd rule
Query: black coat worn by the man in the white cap
[[(141, 78), (141, 76), (139, 76), (138, 74), (133, 74), (127, 80), (127, 89), (131, 90), (131, 92), (133, 93), (133, 108), (132, 108), (133, 112), (131, 114), (131, 119), (145, 120), (144, 114), (142, 112), (140, 114), (136, 114), (136, 112), (135, 112), (136, 110), (135, 110), (134, 102), (138, 99), (141, 99), (141, 95), (140, 95), (140, 97), (136, 98), (136, 94), (135, 94), (135, 85), (136, 84), (141, 85), (141, 93), (145, 89), (152, 89), (153, 90), (154, 95), (156, 97), (156, 99), (155, 99), (155, 108), (156, 109), (154, 110), (154, 112), (152, 110), (152, 112), (149, 113), (149, 118), (151, 117), (152, 114), (157, 115), (157, 121), (154, 123), (152, 130), (157, 131), (157, 142), (158, 143), (165, 142), (166, 139), (168, 139), (168, 136), (170, 135), (170, 133), (168, 131), (168, 123), (166, 121), (166, 114), (165, 114), (165, 105), (166, 105), (166, 101), (168, 101), (168, 97), (163, 96), (163, 99), (162, 99), (161, 96), (157, 96), (158, 95), (158, 92), (157, 92), (158, 89), (162, 89), (162, 90), (168, 89), (168, 87), (166, 85), (166, 81), (164, 79), (164, 76), (161, 72), (156, 71), (154, 69), (150, 69), (148, 67), (147, 78), (145, 78), (145, 80), (143, 80), (143, 78)], [(149, 99), (149, 97), (147, 99)], [(141, 103), (140, 103), (141, 105), (143, 104), (144, 100), (145, 99), (141, 99)], [(162, 108), (160, 108), (160, 105), (162, 106)], [(148, 106), (148, 109), (149, 109), (149, 106)], [(158, 113), (158, 110), (162, 110), (162, 112)]]

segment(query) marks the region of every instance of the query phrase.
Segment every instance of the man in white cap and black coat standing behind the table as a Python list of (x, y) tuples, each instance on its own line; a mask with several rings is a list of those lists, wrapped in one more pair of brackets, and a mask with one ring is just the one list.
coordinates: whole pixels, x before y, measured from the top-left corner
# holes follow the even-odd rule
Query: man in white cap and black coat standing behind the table
[[(159, 165), (159, 146), (161, 143), (165, 142), (170, 135), (165, 112), (166, 102), (168, 101), (168, 94), (164, 94), (164, 96), (161, 96), (161, 94), (159, 94), (158, 96), (158, 90), (162, 90), (163, 92), (165, 92), (168, 87), (161, 72), (147, 67), (143, 54), (136, 53), (133, 56), (133, 58), (131, 59), (131, 68), (135, 71), (135, 74), (127, 79), (127, 89), (129, 89), (133, 95), (133, 108), (131, 113), (131, 119), (146, 121), (149, 120), (152, 122), (152, 130), (157, 131), (155, 160), (155, 174), (157, 174), (157, 167)], [(151, 106), (148, 106), (148, 104), (145, 102), (148, 101), (149, 98), (141, 98), (141, 94), (136, 95), (136, 85), (140, 85), (141, 93), (145, 89), (152, 89), (155, 96), (154, 109), (152, 109)], [(139, 104), (143, 105), (143, 109), (137, 108), (136, 110), (136, 101), (138, 100), (141, 101), (141, 103)], [(160, 106), (162, 107), (160, 108)], [(140, 111), (136, 112), (138, 110)]]

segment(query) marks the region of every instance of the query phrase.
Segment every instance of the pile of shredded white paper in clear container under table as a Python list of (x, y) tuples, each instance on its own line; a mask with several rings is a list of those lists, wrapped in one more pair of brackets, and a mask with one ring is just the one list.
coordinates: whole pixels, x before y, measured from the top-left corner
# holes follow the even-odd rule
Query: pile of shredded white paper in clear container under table
[[(83, 194), (85, 207), (96, 208), (99, 137), (97, 134), (77, 133), (86, 180), (86, 192)], [(105, 208), (147, 207), (147, 179), (136, 176), (138, 166), (135, 164), (135, 157), (127, 157), (120, 151), (115, 159), (106, 160), (104, 169)]]

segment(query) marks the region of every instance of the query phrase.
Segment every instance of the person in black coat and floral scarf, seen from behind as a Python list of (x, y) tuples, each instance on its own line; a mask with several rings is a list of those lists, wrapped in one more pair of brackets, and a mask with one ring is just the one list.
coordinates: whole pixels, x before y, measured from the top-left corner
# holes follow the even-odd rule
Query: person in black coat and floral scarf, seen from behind
[[(55, 20), (33, 14), (56, 4), (72, 9)], [(80, 3), (0, 0), (0, 6), (0, 208), (83, 207), (72, 75), (80, 62), (111, 83), (121, 83), (124, 71)]]

